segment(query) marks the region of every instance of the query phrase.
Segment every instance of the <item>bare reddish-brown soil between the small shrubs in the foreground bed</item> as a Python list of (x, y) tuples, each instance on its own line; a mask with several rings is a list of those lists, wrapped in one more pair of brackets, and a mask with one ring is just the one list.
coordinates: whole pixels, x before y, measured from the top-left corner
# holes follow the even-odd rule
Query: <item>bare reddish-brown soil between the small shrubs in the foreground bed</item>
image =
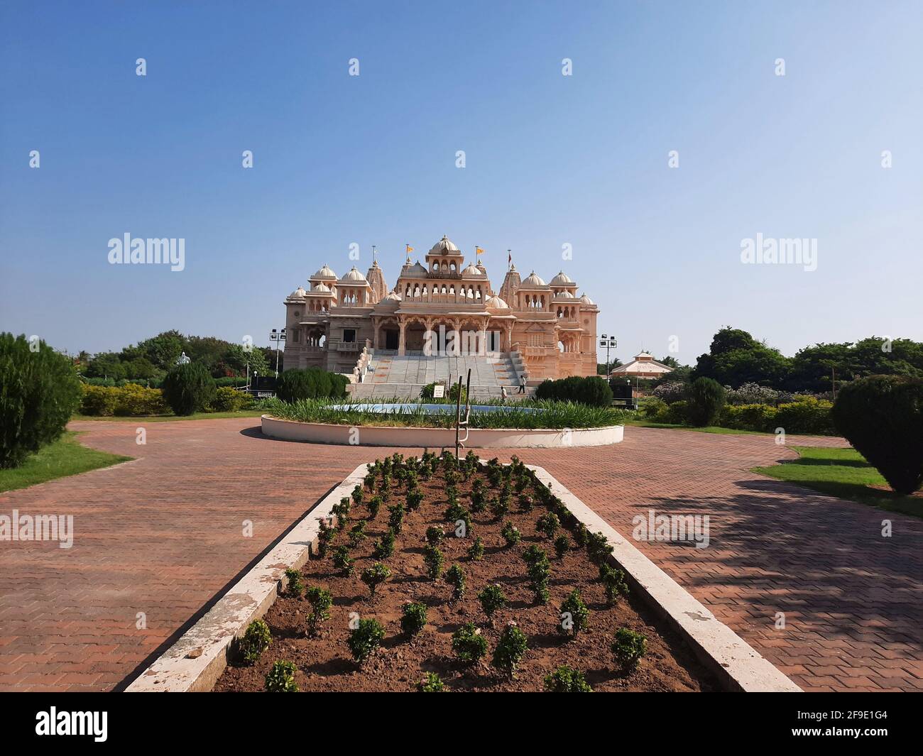
[[(483, 472), (476, 475), (484, 476)], [(472, 480), (457, 484), (459, 500), (469, 509)], [(497, 492), (486, 480), (485, 485), (489, 500)], [(536, 501), (529, 513), (521, 512), (514, 493), (509, 514), (502, 520), (495, 521), (489, 510), (472, 514), (469, 537), (456, 538), (454, 526), (444, 520), (448, 502), (441, 467), (429, 481), (419, 481), (419, 486), (424, 493), (423, 504), (405, 514), (394, 554), (382, 560), (392, 571), (391, 577), (378, 586), (374, 596), (369, 595), (359, 575), (377, 561), (372, 558), (372, 548), (388, 528), (387, 505), (381, 507), (375, 520), (368, 520), (366, 541), (350, 550), (355, 558), (353, 575), (342, 577), (330, 562), (333, 546), (346, 543), (349, 527), (368, 517), (365, 504), (354, 505), (350, 522), (333, 541), (328, 556), (312, 558), (302, 570), (306, 586), (318, 585), (333, 595), (330, 619), (318, 635), (306, 637), (306, 619), (311, 611), (307, 601), (281, 594), (264, 617), (272, 632), (269, 649), (253, 666), (231, 662), (214, 690), (263, 690), (266, 674), (278, 660), (294, 662), (295, 683), (302, 691), (415, 690), (427, 672), (438, 673), (446, 690), (538, 691), (544, 690), (545, 675), (560, 665), (581, 670), (593, 690), (598, 691), (719, 690), (713, 676), (685, 642), (665, 628), (638, 597), (629, 592), (627, 597), (619, 598), (616, 606), (605, 606), (598, 570), (585, 550), (571, 550), (557, 558), (553, 539), (545, 538), (535, 528), (536, 520), (547, 511), (540, 503)], [(366, 491), (366, 501), (370, 496)], [(404, 489), (394, 488), (390, 503), (404, 498)], [(522, 534), (516, 546), (506, 546), (500, 535), (507, 521)], [(426, 528), (430, 525), (441, 525), (447, 534), (441, 546), (444, 569), (458, 563), (465, 571), (466, 593), (458, 602), (450, 601), (452, 587), (443, 578), (433, 581), (426, 575), (423, 555)], [(573, 544), (569, 531), (562, 528), (556, 537), (559, 534), (567, 534)], [(466, 556), (475, 535), (480, 535), (485, 544), (485, 555), (480, 560)], [(522, 551), (531, 544), (544, 548), (551, 562), (551, 600), (544, 606), (534, 601), (521, 558)], [(508, 607), (497, 611), (493, 623), (487, 621), (477, 599), (488, 583), (498, 583), (509, 602)], [(576, 637), (569, 637), (559, 630), (558, 607), (574, 588), (580, 589), (591, 614), (588, 627)], [(400, 623), (402, 606), (409, 601), (427, 606), (426, 627), (414, 637), (405, 636)], [(381, 647), (361, 666), (354, 662), (346, 644), (351, 613), (378, 619), (386, 632)], [(513, 678), (490, 665), (497, 637), (510, 620), (516, 622), (529, 642)], [(451, 650), (451, 635), (465, 622), (474, 622), (487, 641), (487, 654), (473, 666), (457, 662)], [(639, 631), (648, 639), (647, 654), (628, 673), (617, 665), (609, 650), (616, 630), (622, 627)]]

